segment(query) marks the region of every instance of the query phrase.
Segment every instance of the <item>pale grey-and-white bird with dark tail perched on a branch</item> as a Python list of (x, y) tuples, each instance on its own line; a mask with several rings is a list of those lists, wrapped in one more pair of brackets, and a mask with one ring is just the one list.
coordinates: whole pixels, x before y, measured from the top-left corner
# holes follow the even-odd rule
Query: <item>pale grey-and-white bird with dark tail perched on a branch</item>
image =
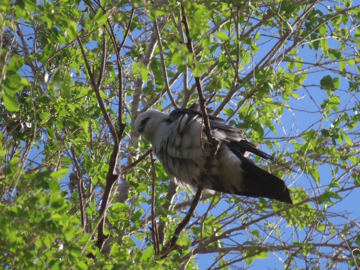
[[(135, 130), (151, 143), (170, 179), (183, 188), (200, 185), (199, 176), (211, 150), (202, 112), (199, 105), (194, 104), (170, 114), (156, 109), (142, 112), (134, 123)], [(219, 149), (202, 183), (204, 191), (264, 197), (292, 204), (285, 182), (256, 166), (247, 156), (253, 153), (291, 170), (290, 167), (258, 149), (258, 143), (248, 141), (221, 118), (209, 114), (209, 122)]]

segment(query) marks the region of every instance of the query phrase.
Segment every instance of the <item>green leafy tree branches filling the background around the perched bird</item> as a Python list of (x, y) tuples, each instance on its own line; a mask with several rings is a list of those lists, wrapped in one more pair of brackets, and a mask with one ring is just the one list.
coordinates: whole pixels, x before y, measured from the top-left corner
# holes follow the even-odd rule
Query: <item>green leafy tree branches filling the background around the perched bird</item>
[[(359, 25), (348, 0), (2, 0), (1, 266), (359, 269)], [(198, 102), (195, 77), (216, 115), (298, 171), (255, 159), (294, 205), (205, 194), (154, 257), (152, 216), (161, 249), (192, 194), (132, 123)]]

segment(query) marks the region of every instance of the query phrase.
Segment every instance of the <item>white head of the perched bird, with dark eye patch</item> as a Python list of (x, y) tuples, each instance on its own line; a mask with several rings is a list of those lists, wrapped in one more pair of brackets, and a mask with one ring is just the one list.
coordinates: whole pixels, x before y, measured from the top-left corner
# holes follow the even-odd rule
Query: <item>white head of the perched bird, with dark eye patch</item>
[(152, 142), (160, 123), (168, 117), (167, 113), (158, 110), (140, 113), (135, 120), (135, 130), (140, 132), (145, 140)]

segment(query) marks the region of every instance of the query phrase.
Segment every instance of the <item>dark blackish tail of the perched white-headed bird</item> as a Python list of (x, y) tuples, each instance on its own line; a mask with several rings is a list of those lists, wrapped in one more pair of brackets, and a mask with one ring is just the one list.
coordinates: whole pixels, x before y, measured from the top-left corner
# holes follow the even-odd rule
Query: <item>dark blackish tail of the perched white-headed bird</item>
[(243, 174), (241, 191), (235, 192), (235, 194), (265, 197), (292, 204), (290, 192), (283, 180), (257, 167), (246, 157), (242, 155), (238, 155), (238, 157), (242, 162)]

